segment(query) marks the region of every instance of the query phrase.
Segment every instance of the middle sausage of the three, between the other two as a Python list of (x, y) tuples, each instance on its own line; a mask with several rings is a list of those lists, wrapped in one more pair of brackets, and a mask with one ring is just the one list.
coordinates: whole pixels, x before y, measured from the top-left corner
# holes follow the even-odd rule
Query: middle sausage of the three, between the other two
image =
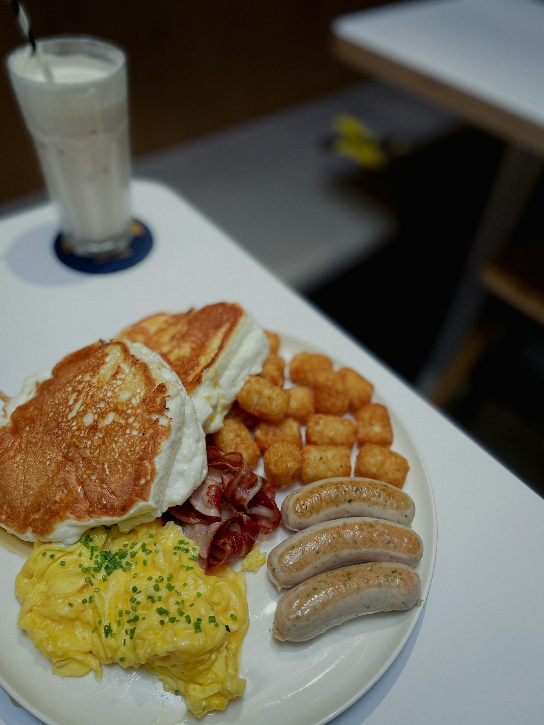
[(276, 587), (294, 587), (309, 576), (363, 561), (397, 561), (413, 566), (423, 542), (402, 523), (381, 518), (335, 518), (284, 539), (268, 555), (268, 576)]

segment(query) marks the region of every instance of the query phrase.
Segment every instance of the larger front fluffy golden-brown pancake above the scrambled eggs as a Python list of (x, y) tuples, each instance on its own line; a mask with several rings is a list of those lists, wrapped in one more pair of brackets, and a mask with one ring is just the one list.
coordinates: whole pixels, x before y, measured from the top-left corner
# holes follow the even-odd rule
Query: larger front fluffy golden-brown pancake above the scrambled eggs
[(0, 427), (0, 525), (71, 544), (128, 531), (186, 500), (207, 473), (191, 399), (139, 344), (96, 342), (25, 381)]

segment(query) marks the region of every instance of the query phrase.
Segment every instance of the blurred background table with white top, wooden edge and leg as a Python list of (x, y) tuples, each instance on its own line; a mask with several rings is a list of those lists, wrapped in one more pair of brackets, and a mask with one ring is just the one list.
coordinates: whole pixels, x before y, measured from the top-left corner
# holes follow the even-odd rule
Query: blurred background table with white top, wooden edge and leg
[[(544, 2), (417, 0), (332, 26), (337, 56), (506, 141), (471, 253), (419, 388), (432, 392), (482, 303), (479, 270), (514, 230), (544, 158)], [(470, 173), (467, 168), (466, 173)]]

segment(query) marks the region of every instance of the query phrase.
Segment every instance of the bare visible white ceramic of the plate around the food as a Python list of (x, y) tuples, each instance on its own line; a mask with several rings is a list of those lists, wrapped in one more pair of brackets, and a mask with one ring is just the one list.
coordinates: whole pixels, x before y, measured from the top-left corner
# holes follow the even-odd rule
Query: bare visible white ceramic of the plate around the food
[[(316, 348), (282, 337), (281, 355), (289, 360), (301, 350)], [(326, 354), (330, 354), (326, 353)], [(342, 363), (343, 364), (343, 363)], [(338, 363), (340, 365), (340, 363)], [(364, 374), (364, 371), (361, 370)], [(376, 391), (374, 400), (387, 405), (395, 440), (392, 449), (404, 455), (410, 472), (404, 490), (416, 503), (412, 527), (424, 542), (418, 565), (424, 600), (429, 592), (437, 545), (434, 497), (424, 462), (408, 430), (394, 413), (394, 402)], [(286, 494), (278, 495), (281, 505)], [(260, 544), (270, 551), (288, 534), (281, 527)], [(34, 649), (17, 629), (19, 602), (14, 581), (22, 566), (20, 556), (0, 547), (3, 591), (0, 595), (0, 684), (9, 695), (46, 725), (181, 725), (197, 720), (183, 700), (168, 694), (160, 681), (144, 671), (104, 668), (102, 683), (92, 674), (81, 679), (51, 674), (49, 660)], [(244, 642), (241, 676), (247, 679), (244, 697), (223, 713), (204, 721), (238, 725), (322, 725), (363, 695), (393, 663), (410, 637), (422, 608), (360, 617), (335, 627), (310, 642), (278, 642), (271, 634), (279, 592), (262, 567), (247, 574), (251, 624)], [(331, 684), (334, 683), (334, 687)]]

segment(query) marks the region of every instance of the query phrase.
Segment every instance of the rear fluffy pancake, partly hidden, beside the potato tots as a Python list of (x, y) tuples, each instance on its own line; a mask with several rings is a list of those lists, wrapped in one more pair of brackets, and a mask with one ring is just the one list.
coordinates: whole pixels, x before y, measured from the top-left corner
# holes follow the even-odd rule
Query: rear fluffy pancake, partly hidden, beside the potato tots
[(205, 433), (215, 433), (250, 375), (263, 369), (270, 346), (240, 305), (218, 302), (200, 310), (159, 312), (125, 328), (120, 339), (158, 352), (178, 374)]

